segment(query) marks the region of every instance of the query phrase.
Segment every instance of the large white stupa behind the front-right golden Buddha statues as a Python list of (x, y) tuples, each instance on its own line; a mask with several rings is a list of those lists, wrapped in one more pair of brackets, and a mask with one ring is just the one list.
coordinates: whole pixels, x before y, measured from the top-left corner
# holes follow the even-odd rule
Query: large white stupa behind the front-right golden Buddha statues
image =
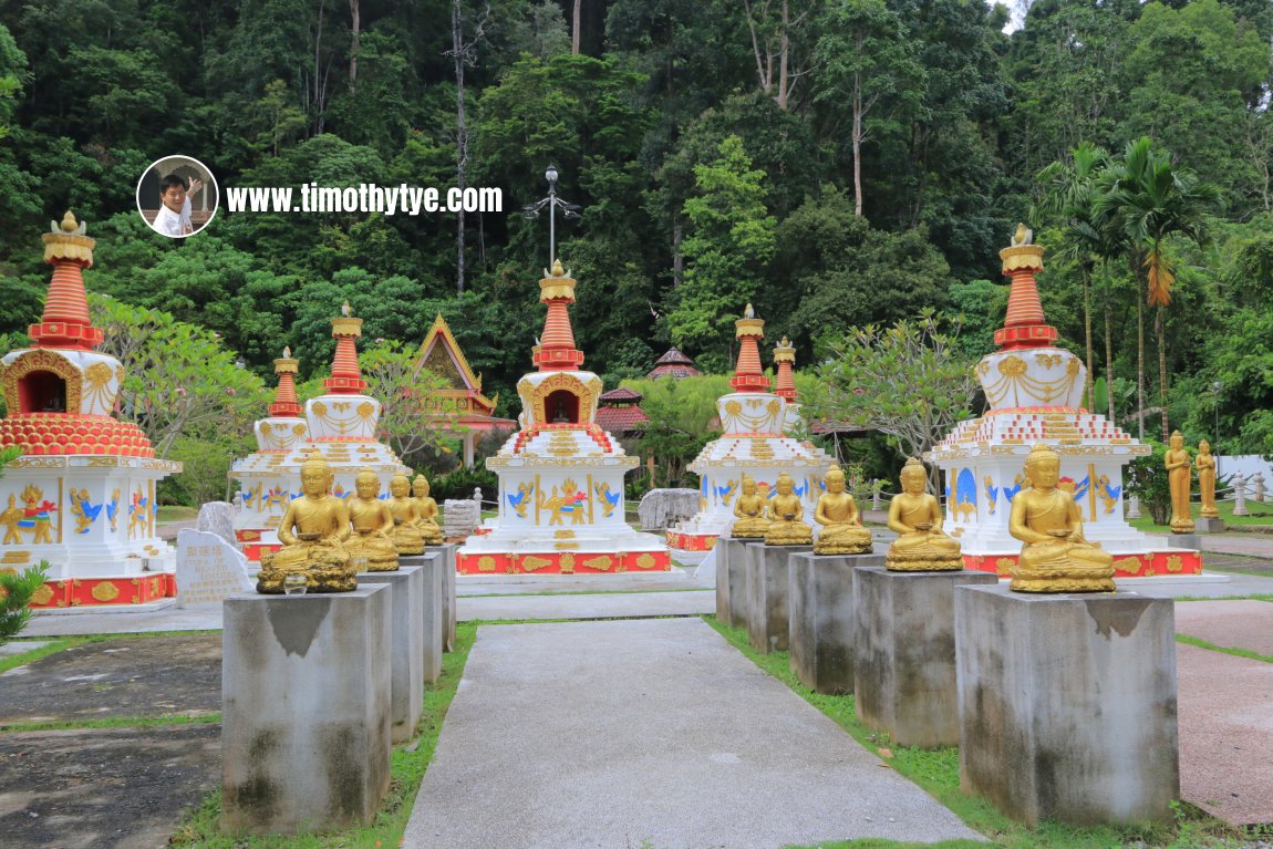
[(1081, 407), (1087, 369), (1054, 345), (1057, 328), (1044, 319), (1035, 284), (1043, 255), (1023, 225), (999, 252), (1012, 277), (1007, 318), (994, 333), (999, 350), (975, 367), (990, 409), (960, 423), (925, 456), (946, 474), (946, 530), (960, 541), (967, 568), (1008, 575), (1021, 552), (1008, 533), (1012, 499), (1029, 486), (1031, 448), (1044, 444), (1060, 456), (1060, 489), (1081, 508), (1087, 541), (1114, 555), (1116, 578), (1198, 574), (1198, 551), (1155, 542), (1123, 518), (1123, 466), (1150, 447)]

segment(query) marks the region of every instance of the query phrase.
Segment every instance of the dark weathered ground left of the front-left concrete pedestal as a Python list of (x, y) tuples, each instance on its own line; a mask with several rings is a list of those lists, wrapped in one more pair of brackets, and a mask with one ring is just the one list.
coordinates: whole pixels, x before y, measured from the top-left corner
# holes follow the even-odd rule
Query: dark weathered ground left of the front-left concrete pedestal
[(115, 639), (0, 676), (0, 849), (150, 849), (220, 775), (220, 726), (22, 731), (220, 709), (220, 634)]

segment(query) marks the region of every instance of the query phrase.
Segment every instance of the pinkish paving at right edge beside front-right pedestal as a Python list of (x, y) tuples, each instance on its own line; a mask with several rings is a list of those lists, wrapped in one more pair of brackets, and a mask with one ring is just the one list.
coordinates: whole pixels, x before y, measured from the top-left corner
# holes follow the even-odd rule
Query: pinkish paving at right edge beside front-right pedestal
[[(1176, 610), (1198, 603), (1211, 602)], [(1273, 663), (1178, 643), (1176, 670), (1181, 798), (1234, 825), (1273, 824)]]

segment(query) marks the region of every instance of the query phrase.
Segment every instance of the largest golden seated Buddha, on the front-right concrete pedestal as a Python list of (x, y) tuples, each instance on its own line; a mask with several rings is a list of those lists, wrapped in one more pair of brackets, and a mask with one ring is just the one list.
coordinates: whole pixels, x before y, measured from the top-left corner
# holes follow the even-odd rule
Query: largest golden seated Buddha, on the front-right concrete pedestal
[(1026, 480), (1012, 499), (1008, 532), (1025, 545), (1012, 570), (1016, 592), (1114, 592), (1114, 558), (1083, 538), (1074, 496), (1057, 489), (1060, 456), (1035, 446), (1026, 457)]

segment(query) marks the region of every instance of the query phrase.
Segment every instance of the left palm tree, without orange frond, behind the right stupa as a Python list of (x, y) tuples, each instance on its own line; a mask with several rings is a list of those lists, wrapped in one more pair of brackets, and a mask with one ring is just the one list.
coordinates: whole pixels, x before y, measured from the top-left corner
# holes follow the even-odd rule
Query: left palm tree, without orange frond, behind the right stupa
[[(1109, 153), (1090, 141), (1082, 141), (1069, 151), (1072, 163), (1054, 162), (1039, 172), (1036, 179), (1043, 183), (1045, 193), (1036, 214), (1051, 215), (1066, 221), (1062, 232), (1064, 247), (1058, 256), (1078, 263), (1083, 277), (1083, 337), (1087, 342), (1087, 409), (1095, 406), (1092, 395), (1092, 269), (1096, 257), (1101, 255), (1101, 228), (1096, 219), (1095, 206), (1099, 193), (1096, 176), (1109, 165)], [(1110, 363), (1105, 364), (1106, 383)], [(1111, 411), (1113, 414), (1113, 411)]]

